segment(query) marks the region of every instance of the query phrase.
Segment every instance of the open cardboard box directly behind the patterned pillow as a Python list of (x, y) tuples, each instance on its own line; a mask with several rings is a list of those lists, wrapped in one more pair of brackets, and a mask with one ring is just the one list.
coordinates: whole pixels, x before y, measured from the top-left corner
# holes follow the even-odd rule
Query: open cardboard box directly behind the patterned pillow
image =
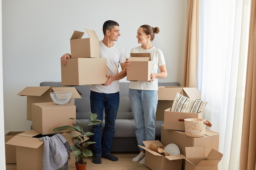
[(164, 110), (172, 108), (176, 93), (190, 99), (201, 99), (201, 93), (196, 87), (159, 86), (156, 120), (164, 121)]

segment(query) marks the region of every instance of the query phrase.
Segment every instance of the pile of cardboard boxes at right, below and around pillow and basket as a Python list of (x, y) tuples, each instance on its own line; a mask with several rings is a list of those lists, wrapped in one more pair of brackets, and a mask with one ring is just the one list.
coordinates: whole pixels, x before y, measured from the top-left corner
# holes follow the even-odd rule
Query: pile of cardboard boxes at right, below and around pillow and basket
[[(185, 135), (184, 121), (179, 119), (202, 118), (203, 113), (173, 112), (171, 107), (176, 93), (191, 99), (200, 99), (201, 93), (197, 88), (167, 87), (158, 88), (158, 106), (156, 115), (164, 120), (161, 128), (160, 141), (144, 141), (146, 150), (145, 166), (152, 170), (217, 170), (222, 154), (218, 152), (219, 134), (206, 129), (202, 137)], [(156, 147), (176, 144), (181, 155), (163, 156), (150, 149), (149, 144)]]

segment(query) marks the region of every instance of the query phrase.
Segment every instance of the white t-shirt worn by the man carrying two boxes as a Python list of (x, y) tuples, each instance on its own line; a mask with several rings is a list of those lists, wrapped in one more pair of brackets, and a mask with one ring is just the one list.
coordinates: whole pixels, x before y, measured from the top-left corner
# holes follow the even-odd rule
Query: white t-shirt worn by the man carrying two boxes
[[(107, 58), (108, 75), (117, 75), (119, 73), (119, 64), (126, 61), (124, 49), (117, 44), (108, 48), (102, 41), (99, 41), (99, 53), (101, 58)], [(108, 86), (101, 84), (91, 85), (91, 91), (107, 94), (117, 93), (119, 92), (119, 80), (113, 81)]]

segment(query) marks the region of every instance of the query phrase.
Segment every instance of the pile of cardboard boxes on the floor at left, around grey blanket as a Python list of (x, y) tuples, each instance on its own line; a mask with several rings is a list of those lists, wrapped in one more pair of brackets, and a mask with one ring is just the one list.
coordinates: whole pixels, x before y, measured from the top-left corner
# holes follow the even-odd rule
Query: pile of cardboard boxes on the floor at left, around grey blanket
[[(50, 93), (70, 91), (72, 96), (65, 105), (52, 102)], [(18, 95), (27, 96), (27, 120), (32, 121), (32, 129), (26, 132), (9, 132), (6, 139), (6, 163), (16, 163), (17, 170), (41, 170), (43, 168), (43, 141), (39, 138), (61, 133), (70, 145), (74, 132), (63, 130), (54, 132), (59, 126), (75, 123), (69, 118), (76, 118), (75, 98), (81, 98), (80, 92), (74, 87), (26, 87)], [(11, 152), (12, 151), (12, 152)], [(69, 165), (74, 164), (74, 155)]]

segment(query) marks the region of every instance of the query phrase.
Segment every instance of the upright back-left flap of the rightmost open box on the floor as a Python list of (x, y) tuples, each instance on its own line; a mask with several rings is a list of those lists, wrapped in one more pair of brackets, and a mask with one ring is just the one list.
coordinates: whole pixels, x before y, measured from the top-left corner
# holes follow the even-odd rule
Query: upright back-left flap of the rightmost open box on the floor
[(205, 149), (203, 146), (186, 147), (186, 158), (205, 158)]

